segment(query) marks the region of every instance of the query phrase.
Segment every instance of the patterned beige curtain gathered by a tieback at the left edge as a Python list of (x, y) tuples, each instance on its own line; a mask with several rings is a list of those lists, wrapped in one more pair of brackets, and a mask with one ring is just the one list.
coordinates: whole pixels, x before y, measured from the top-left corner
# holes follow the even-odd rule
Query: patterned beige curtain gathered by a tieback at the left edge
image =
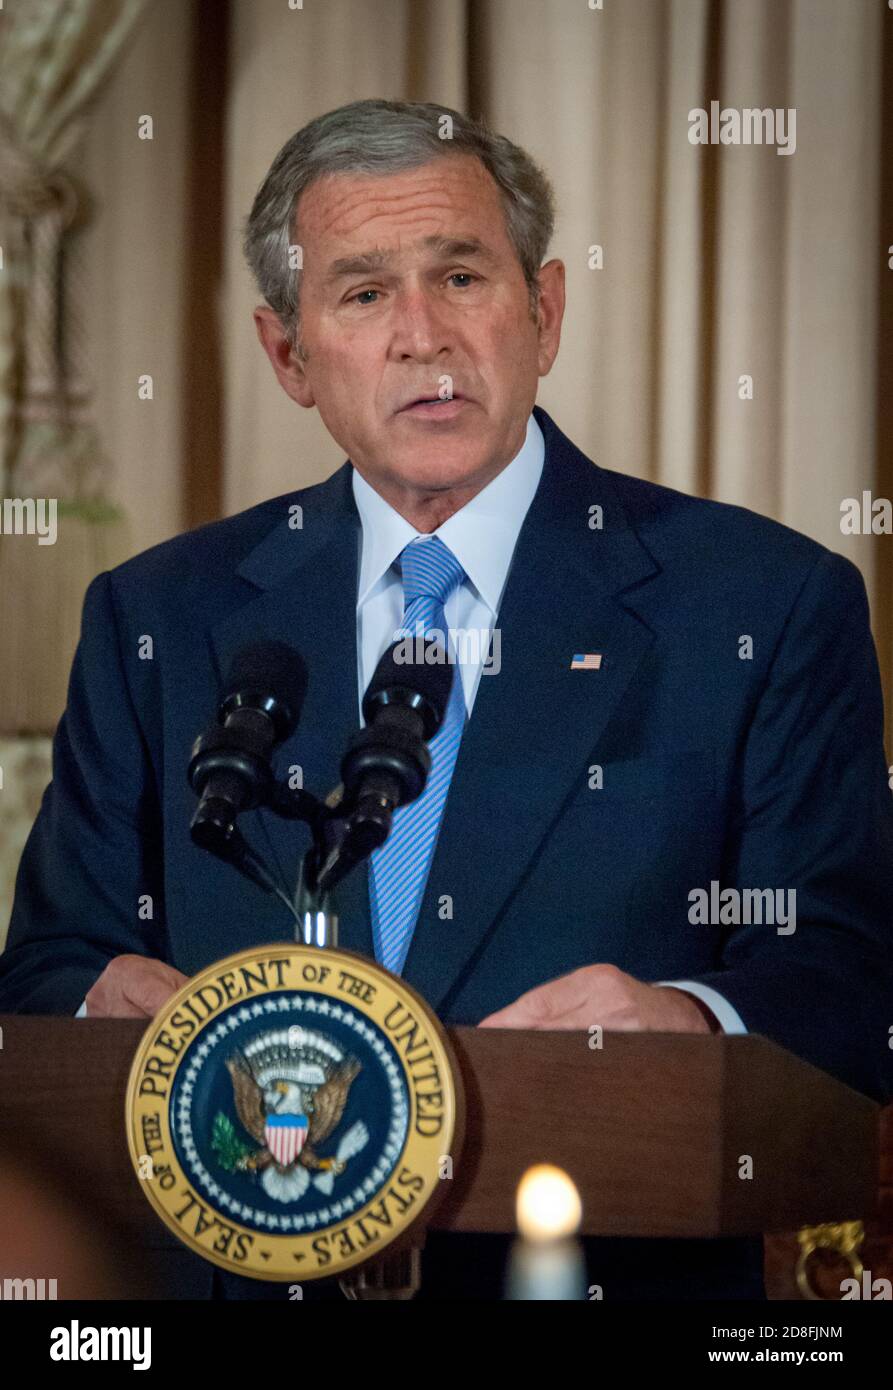
[[(29, 0), (0, 14), (0, 492), (56, 509), (42, 543), (24, 512), (0, 537), (6, 660), (0, 730), (51, 730), (90, 578), (127, 553), (85, 379), (77, 174), (85, 115), (145, 0)], [(33, 516), (33, 513), (32, 513)]]

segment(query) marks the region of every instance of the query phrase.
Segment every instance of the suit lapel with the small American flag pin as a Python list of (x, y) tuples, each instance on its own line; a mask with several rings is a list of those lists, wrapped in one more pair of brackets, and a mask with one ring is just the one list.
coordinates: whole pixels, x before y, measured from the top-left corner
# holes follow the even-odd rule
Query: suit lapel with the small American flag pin
[[(658, 566), (629, 527), (609, 474), (545, 411), (536, 416), (545, 464), (497, 620), (501, 670), (480, 680), (403, 969), (435, 1009), (473, 965), (562, 803), (583, 785), (654, 641), (619, 595)], [(601, 531), (590, 530), (593, 505), (604, 509)], [(601, 652), (601, 670), (572, 671), (577, 652)], [(444, 895), (452, 919), (441, 920)]]

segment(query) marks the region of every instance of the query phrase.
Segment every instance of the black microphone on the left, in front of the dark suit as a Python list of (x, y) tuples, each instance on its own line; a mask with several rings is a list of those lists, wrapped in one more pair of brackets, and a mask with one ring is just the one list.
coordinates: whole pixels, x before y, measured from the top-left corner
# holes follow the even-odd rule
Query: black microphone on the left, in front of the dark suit
[(270, 753), (296, 727), (306, 689), (305, 663), (285, 642), (255, 642), (236, 653), (217, 723), (192, 748), (188, 777), (199, 806), (189, 833), (196, 845), (221, 853), (239, 812), (266, 799)]

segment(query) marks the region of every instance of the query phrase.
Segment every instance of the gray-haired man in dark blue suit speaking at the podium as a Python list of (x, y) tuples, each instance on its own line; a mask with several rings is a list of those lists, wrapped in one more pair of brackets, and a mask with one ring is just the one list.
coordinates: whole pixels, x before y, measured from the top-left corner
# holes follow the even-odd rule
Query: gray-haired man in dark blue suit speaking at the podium
[[(149, 1017), (291, 937), (191, 842), (192, 741), (231, 656), (287, 642), (309, 680), (281, 766), (324, 791), (426, 613), (465, 655), (423, 796), (342, 885), (341, 944), (448, 1024), (750, 1030), (893, 1094), (862, 581), (751, 512), (594, 466), (534, 406), (565, 309), (552, 224), (530, 157), (441, 107), (357, 101), (277, 156), (245, 236), (257, 334), (348, 461), (90, 584), (0, 1011)], [(243, 830), (291, 891), (303, 827)], [(428, 1238), (423, 1293), (499, 1297), (505, 1243), (470, 1240)], [(606, 1298), (762, 1297), (758, 1241), (591, 1248)]]

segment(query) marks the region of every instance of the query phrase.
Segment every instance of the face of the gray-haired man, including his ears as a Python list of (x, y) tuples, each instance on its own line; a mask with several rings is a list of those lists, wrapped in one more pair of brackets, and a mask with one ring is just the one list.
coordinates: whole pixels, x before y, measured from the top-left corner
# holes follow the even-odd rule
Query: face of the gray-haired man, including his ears
[[(303, 361), (273, 311), (256, 310), (281, 384), (317, 406), (405, 514), (433, 493), (463, 505), (523, 443), (558, 352), (563, 265), (541, 270), (534, 322), (499, 190), (470, 156), (381, 178), (328, 175), (305, 192), (296, 221)], [(423, 398), (435, 403), (413, 404)]]

